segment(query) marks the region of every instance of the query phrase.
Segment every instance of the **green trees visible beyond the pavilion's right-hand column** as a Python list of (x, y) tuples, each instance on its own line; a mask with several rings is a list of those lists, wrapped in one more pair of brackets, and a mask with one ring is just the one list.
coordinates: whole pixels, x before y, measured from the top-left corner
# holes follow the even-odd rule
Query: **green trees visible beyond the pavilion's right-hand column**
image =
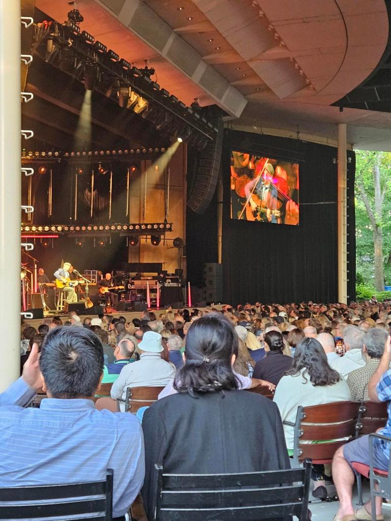
[(391, 285), (391, 153), (357, 151), (356, 256), (360, 283)]

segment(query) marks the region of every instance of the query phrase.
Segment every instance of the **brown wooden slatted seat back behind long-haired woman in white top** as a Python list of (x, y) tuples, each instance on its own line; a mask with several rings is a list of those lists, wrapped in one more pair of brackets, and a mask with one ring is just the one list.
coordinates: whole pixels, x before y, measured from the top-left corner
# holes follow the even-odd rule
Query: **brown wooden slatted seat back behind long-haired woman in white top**
[(294, 434), (295, 465), (306, 458), (311, 458), (313, 463), (331, 463), (335, 451), (355, 437), (359, 405), (333, 402), (299, 406)]

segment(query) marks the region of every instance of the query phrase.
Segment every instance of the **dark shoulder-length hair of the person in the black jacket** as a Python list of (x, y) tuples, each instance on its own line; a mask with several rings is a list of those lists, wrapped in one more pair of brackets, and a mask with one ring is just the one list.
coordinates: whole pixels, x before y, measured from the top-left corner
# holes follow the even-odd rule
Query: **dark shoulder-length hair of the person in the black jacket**
[(219, 313), (209, 313), (190, 326), (186, 337), (186, 364), (177, 372), (178, 392), (214, 392), (238, 388), (231, 366), (238, 354), (234, 326)]

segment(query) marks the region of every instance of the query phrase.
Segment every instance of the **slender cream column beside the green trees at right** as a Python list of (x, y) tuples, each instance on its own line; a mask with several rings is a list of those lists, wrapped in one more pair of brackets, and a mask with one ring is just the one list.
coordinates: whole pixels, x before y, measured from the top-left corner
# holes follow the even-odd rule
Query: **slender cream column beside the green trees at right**
[(347, 303), (346, 123), (338, 125), (338, 301)]

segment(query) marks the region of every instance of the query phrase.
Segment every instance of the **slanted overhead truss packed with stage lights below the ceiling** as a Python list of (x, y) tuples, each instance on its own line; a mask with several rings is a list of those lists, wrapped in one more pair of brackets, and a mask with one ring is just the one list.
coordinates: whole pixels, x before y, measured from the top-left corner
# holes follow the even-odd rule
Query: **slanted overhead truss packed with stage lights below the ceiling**
[[(46, 15), (45, 15), (46, 16)], [(151, 69), (139, 69), (72, 20), (60, 24), (50, 17), (34, 25), (33, 52), (47, 63), (83, 81), (87, 90), (112, 97), (169, 137), (180, 137), (202, 150), (218, 129), (207, 121), (198, 104), (188, 107), (151, 80)]]

